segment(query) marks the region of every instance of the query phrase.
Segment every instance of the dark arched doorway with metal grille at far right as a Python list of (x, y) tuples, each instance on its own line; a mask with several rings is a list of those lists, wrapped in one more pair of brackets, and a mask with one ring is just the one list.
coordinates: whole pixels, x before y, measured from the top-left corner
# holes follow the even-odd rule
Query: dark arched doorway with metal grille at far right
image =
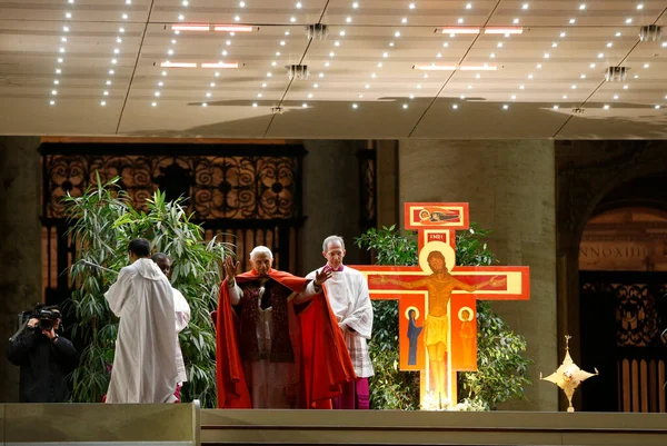
[(667, 412), (667, 211), (620, 188), (589, 218), (579, 246), (580, 366), (600, 376), (581, 408)]

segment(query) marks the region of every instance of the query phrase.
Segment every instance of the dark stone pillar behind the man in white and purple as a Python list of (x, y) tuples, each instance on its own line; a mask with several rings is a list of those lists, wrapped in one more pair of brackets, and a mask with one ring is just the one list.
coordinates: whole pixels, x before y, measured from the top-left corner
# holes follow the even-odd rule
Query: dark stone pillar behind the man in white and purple
[(322, 241), (336, 234), (345, 239), (345, 262), (358, 264), (360, 250), (355, 238), (360, 236), (360, 178), (357, 152), (366, 141), (303, 141), (303, 215), (301, 231), (301, 267), (306, 275), (325, 264)]

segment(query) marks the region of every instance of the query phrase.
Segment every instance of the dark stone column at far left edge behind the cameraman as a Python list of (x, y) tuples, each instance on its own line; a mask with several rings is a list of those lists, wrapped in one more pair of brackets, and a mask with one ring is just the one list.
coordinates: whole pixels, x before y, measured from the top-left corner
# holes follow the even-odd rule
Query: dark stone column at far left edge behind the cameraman
[(19, 367), (6, 358), (17, 315), (42, 298), (39, 138), (0, 137), (0, 402), (19, 400)]

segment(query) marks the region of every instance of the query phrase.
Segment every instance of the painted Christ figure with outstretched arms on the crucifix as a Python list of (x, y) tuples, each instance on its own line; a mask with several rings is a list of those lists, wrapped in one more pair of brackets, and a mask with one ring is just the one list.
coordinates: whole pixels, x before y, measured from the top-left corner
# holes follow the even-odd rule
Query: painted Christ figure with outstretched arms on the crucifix
[(487, 286), (500, 287), (506, 279), (491, 279), (481, 284), (465, 284), (455, 278), (445, 262), (445, 256), (440, 251), (431, 251), (427, 257), (428, 266), (432, 274), (415, 281), (402, 281), (380, 276), (371, 279), (376, 284), (391, 284), (406, 289), (425, 288), (428, 290), (428, 315), (424, 321), (424, 344), (428, 353), (429, 368), (434, 377), (432, 390), (438, 399), (446, 398), (446, 364), (447, 341), (449, 337), (449, 317), (447, 306), (451, 298), (451, 291), (460, 289), (472, 293)]

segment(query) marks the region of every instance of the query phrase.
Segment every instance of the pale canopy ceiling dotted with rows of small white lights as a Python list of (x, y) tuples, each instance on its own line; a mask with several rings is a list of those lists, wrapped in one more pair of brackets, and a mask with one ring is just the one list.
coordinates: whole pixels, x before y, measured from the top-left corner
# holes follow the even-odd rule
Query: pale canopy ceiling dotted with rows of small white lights
[[(620, 0), (0, 1), (0, 135), (665, 139), (667, 32), (638, 34), (664, 26), (666, 9)], [(328, 27), (326, 39), (307, 37), (313, 23)], [(182, 24), (210, 30), (176, 33)], [(488, 33), (508, 28), (521, 33)], [(200, 67), (219, 61), (238, 68)], [(307, 65), (308, 79), (290, 80), (290, 65)], [(431, 65), (457, 69), (415, 69)], [(628, 67), (626, 80), (606, 82), (609, 66)]]

